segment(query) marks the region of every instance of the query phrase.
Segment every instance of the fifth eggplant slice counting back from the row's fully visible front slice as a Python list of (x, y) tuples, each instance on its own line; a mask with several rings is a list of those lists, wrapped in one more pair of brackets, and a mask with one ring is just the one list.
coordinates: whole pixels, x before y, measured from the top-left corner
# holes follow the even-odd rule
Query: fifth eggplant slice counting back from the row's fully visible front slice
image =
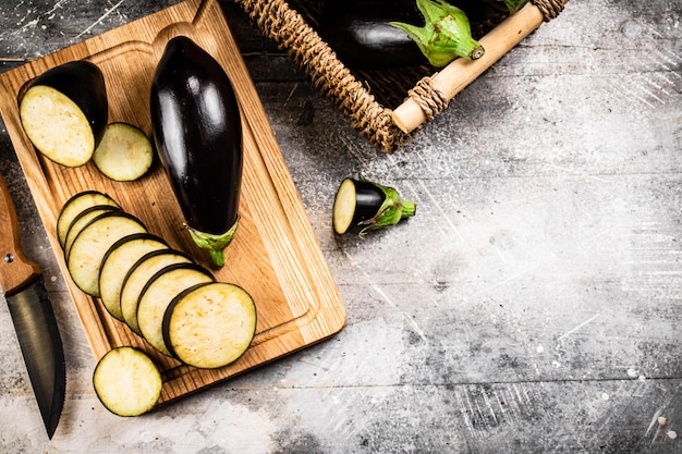
[(146, 233), (141, 220), (123, 211), (111, 211), (93, 219), (75, 237), (66, 257), (73, 282), (90, 296), (99, 296), (99, 268), (107, 250), (119, 240)]

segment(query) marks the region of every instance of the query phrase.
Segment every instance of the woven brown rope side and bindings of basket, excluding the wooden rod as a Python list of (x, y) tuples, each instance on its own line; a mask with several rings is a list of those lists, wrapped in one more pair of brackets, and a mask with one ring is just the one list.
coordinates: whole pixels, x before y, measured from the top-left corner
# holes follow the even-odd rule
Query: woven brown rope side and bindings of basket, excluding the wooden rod
[[(529, 0), (545, 22), (559, 15), (568, 0)], [(431, 85), (431, 66), (385, 71), (351, 70), (315, 30), (321, 2), (310, 0), (234, 0), (261, 34), (288, 52), (315, 89), (334, 102), (351, 126), (377, 149), (390, 152), (417, 131), (404, 133), (392, 119), (405, 98), (415, 100), (426, 121), (442, 112), (449, 100)]]

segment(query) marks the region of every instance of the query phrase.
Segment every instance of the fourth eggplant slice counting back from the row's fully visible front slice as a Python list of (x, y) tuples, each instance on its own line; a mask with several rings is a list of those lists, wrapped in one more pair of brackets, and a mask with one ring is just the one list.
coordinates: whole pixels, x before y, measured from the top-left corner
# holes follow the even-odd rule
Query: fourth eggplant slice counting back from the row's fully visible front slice
[(99, 269), (99, 298), (107, 311), (123, 320), (121, 287), (125, 274), (145, 254), (168, 249), (168, 244), (150, 233), (135, 233), (115, 242), (105, 255)]

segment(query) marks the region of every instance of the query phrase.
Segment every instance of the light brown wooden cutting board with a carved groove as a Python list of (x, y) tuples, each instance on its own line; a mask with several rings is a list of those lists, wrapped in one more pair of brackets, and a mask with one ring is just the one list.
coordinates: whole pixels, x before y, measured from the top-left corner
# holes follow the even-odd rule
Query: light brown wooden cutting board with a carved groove
[[(71, 281), (57, 238), (63, 204), (78, 192), (98, 189), (139, 218), (149, 232), (209, 267), (208, 258), (181, 228), (182, 213), (160, 164), (139, 181), (127, 183), (108, 180), (92, 162), (77, 169), (54, 164), (31, 145), (17, 111), (27, 82), (49, 68), (83, 59), (97, 64), (105, 75), (109, 121), (136, 124), (150, 135), (151, 77), (166, 42), (176, 35), (188, 36), (222, 64), (240, 101), (244, 130), (240, 226), (227, 249), (226, 266), (215, 270), (215, 275), (253, 295), (258, 323), (244, 356), (215, 370), (184, 366), (156, 353), (110, 317), (98, 299)], [(119, 345), (148, 352), (163, 371), (159, 405), (319, 342), (345, 324), (337, 285), (217, 1), (187, 0), (0, 74), (0, 113), (96, 358)]]

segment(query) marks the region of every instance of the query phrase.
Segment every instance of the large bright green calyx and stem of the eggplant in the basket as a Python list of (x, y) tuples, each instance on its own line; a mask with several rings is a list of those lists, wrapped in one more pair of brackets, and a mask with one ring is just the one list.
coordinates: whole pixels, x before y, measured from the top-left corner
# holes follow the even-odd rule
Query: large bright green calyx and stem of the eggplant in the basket
[(403, 22), (390, 24), (412, 38), (434, 66), (444, 66), (458, 57), (476, 60), (485, 49), (472, 37), (466, 13), (444, 0), (416, 0), (425, 24), (418, 27)]

